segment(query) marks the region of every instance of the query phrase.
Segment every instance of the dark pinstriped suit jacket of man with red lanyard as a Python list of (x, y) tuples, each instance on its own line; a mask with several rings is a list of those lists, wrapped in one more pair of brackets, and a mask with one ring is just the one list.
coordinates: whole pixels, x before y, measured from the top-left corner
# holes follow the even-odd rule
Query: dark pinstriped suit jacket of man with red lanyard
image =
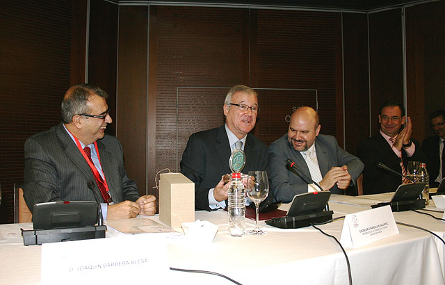
[[(119, 140), (105, 135), (97, 141), (97, 148), (113, 202), (136, 201), (138, 188), (136, 181), (127, 177)], [(88, 181), (95, 181), (91, 169), (62, 123), (28, 138), (24, 152), (23, 191), (31, 211), (34, 204), (42, 202), (95, 201), (87, 186)], [(95, 190), (102, 199), (96, 184)]]

